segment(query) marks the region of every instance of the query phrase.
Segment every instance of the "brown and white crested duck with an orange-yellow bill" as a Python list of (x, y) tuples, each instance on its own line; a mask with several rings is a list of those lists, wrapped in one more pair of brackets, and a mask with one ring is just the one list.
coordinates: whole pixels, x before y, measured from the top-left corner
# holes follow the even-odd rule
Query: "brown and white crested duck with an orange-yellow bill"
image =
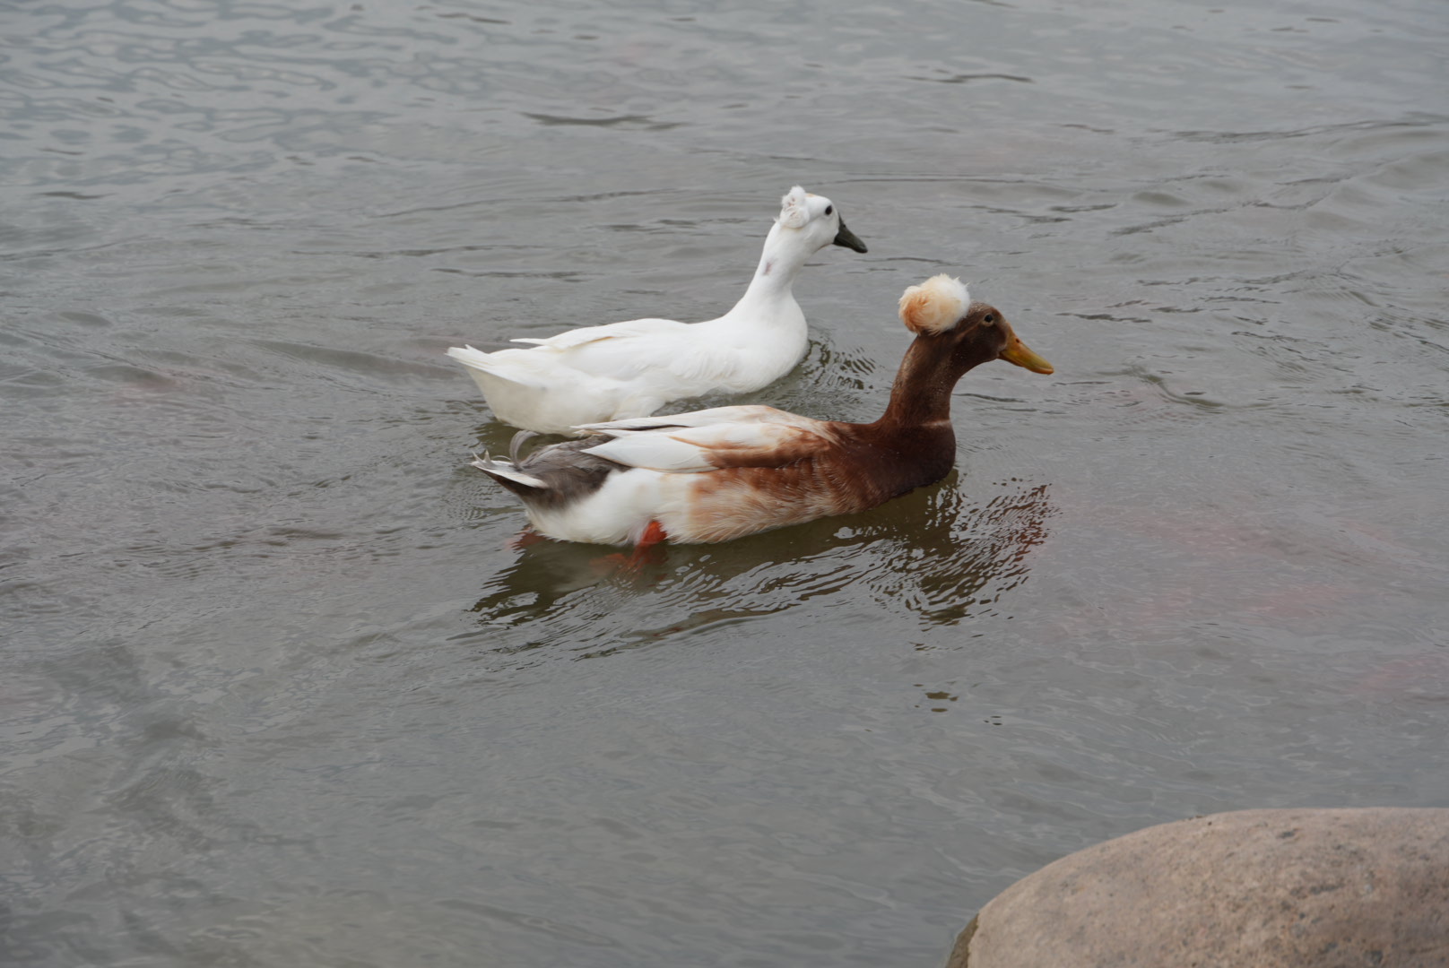
[[(578, 427), (588, 436), (472, 467), (523, 500), (533, 529), (596, 545), (713, 543), (864, 512), (945, 477), (956, 455), (951, 393), (991, 359), (1052, 372), (998, 309), (936, 275), (900, 299), (916, 339), (874, 423), (735, 406)], [(601, 439), (603, 438), (603, 439)]]

